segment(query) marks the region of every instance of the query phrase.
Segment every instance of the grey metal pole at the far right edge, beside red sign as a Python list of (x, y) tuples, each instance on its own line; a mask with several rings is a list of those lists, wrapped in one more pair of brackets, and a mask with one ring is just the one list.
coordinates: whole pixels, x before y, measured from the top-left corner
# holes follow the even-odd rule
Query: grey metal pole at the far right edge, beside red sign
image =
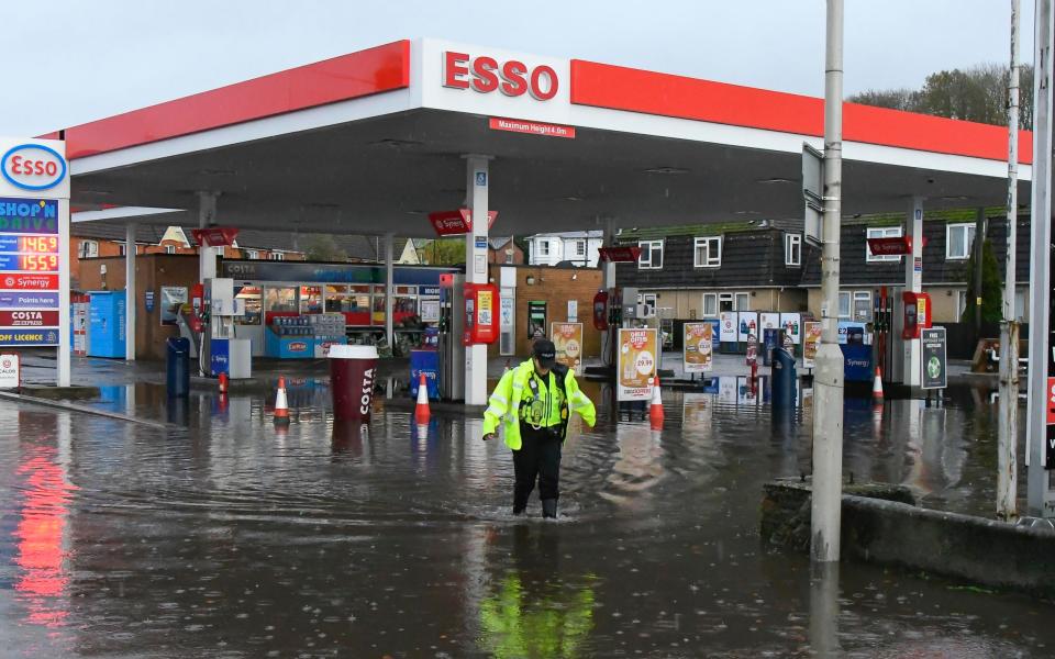
[(1033, 75), (1033, 194), (1030, 203), (1030, 398), (1026, 407), (1026, 465), (1031, 515), (1051, 516), (1048, 476), (1044, 469), (1048, 426), (1047, 378), (1055, 375), (1048, 354), (1052, 243), (1052, 0), (1036, 0), (1036, 64)]

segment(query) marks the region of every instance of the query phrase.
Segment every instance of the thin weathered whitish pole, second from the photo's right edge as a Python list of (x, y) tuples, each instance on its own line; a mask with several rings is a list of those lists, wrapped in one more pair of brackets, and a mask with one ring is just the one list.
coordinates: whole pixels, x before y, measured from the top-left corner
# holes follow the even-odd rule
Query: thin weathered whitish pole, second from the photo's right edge
[[(997, 517), (1019, 516), (1019, 322), (1014, 316), (1014, 257), (1019, 223), (1019, 0), (1011, 0), (1011, 74), (1008, 83), (1008, 255), (1000, 323), (1000, 424), (997, 442)], [(977, 264), (980, 266), (981, 264)], [(980, 268), (979, 268), (980, 269)]]

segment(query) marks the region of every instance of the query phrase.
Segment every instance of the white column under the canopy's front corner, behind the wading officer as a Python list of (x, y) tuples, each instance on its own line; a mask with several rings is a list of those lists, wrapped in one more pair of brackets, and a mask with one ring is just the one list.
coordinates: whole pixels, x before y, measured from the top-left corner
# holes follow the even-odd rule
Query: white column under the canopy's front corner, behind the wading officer
[[(465, 282), (487, 283), (487, 190), (489, 156), (466, 157), (466, 200), (473, 211), (473, 231), (465, 236)], [(480, 246), (477, 247), (477, 244)], [(487, 403), (487, 346), (465, 348), (465, 404)]]

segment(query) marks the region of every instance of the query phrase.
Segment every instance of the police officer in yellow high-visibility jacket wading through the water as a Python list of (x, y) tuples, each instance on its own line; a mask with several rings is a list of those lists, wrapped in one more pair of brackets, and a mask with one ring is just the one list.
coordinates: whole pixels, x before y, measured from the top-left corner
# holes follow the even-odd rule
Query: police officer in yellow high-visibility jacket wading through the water
[(593, 403), (579, 390), (571, 371), (556, 364), (556, 355), (552, 340), (536, 340), (532, 358), (502, 376), (484, 412), (484, 439), (493, 439), (501, 422), (506, 446), (513, 451), (514, 515), (528, 507), (537, 479), (543, 517), (557, 516), (560, 448), (568, 417), (575, 412), (590, 427), (597, 421)]

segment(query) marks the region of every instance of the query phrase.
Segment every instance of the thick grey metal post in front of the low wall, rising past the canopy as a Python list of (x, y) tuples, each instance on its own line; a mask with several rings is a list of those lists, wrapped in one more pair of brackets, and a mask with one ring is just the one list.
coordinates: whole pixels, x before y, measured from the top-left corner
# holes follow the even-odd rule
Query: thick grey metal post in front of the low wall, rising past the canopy
[(839, 348), (839, 250), (843, 178), (843, 0), (828, 0), (824, 66), (824, 228), (821, 345), (813, 381), (810, 558), (839, 560), (843, 490), (843, 353)]

